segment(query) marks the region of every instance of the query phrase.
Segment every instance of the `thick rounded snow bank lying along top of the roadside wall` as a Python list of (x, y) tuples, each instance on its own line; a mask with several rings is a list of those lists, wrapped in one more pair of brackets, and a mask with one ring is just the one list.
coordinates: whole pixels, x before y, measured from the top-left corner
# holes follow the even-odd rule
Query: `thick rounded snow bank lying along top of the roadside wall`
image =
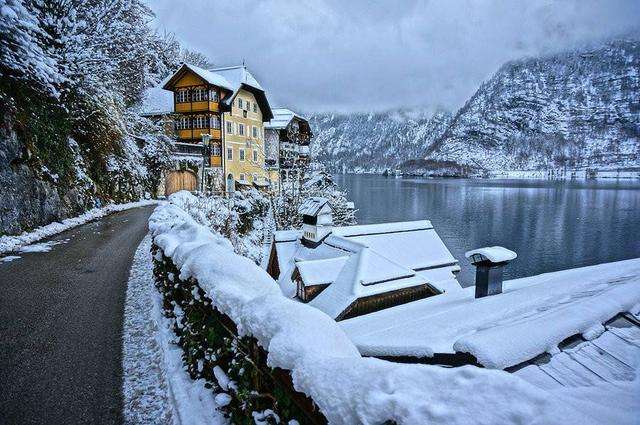
[(291, 371), (295, 388), (330, 423), (591, 423), (506, 372), (362, 358), (332, 319), (284, 297), (264, 270), (176, 205), (156, 208), (149, 228), (180, 278), (197, 279), (238, 331), (268, 351), (269, 366)]

